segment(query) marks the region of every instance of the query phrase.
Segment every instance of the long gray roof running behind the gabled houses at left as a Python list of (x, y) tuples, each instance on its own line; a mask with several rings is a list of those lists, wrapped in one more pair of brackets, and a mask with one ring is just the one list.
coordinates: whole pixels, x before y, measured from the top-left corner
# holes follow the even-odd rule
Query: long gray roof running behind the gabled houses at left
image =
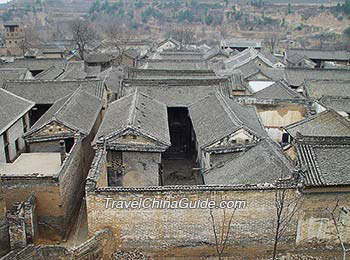
[(36, 104), (53, 104), (58, 99), (72, 94), (80, 86), (92, 95), (103, 97), (104, 85), (101, 80), (8, 81), (4, 83), (3, 88)]

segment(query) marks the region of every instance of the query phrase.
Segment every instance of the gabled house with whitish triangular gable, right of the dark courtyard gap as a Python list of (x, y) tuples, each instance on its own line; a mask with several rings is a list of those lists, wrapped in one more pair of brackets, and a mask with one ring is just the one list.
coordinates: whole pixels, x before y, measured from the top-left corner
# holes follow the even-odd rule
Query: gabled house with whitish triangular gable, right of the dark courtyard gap
[(215, 94), (189, 106), (197, 161), (203, 170), (255, 146), (267, 136), (253, 106)]

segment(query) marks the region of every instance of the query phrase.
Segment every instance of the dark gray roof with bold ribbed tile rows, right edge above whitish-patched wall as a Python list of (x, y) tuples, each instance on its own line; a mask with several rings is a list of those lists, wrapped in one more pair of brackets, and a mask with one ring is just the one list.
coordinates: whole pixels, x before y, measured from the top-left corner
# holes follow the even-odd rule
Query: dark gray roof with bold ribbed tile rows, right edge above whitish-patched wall
[(297, 146), (306, 186), (350, 184), (350, 145)]

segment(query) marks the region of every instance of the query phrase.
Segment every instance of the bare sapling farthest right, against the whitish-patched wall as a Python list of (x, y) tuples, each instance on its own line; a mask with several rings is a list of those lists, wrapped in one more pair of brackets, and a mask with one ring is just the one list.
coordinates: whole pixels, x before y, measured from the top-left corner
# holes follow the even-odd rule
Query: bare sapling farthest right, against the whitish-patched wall
[(339, 243), (341, 245), (342, 251), (343, 251), (343, 260), (346, 260), (346, 253), (350, 250), (350, 248), (346, 248), (343, 240), (343, 235), (341, 232), (341, 229), (345, 227), (345, 224), (343, 222), (343, 219), (341, 218), (343, 214), (348, 214), (348, 211), (345, 207), (340, 207), (339, 205), (339, 199), (336, 200), (336, 204), (333, 207), (333, 209), (326, 208), (326, 211), (330, 215), (334, 228), (336, 237), (339, 240)]

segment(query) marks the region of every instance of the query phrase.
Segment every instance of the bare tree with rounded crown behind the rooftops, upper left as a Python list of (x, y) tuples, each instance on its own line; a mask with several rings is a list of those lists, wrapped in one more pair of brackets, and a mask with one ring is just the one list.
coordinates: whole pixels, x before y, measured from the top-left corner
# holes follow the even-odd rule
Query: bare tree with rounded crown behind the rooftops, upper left
[(87, 45), (96, 40), (96, 32), (91, 24), (83, 19), (76, 19), (70, 24), (70, 30), (73, 34), (73, 41), (75, 42), (81, 59), (84, 59), (84, 52)]

